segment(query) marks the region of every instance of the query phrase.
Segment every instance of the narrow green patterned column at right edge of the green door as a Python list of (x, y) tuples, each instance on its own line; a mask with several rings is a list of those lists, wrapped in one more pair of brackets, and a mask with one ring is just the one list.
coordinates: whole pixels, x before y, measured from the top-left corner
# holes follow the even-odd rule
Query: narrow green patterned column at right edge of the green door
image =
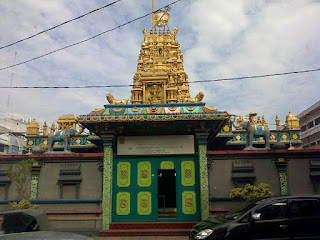
[(209, 218), (209, 180), (207, 167), (207, 135), (197, 135), (199, 177), (200, 177), (200, 208), (201, 219)]

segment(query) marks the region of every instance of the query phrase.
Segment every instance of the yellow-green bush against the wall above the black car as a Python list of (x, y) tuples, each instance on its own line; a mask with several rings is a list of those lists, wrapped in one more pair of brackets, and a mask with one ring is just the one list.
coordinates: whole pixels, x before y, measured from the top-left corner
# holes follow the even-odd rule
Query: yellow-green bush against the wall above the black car
[(234, 188), (230, 192), (230, 198), (238, 201), (269, 197), (272, 195), (270, 185), (266, 183), (260, 183), (258, 186), (247, 184), (244, 188)]

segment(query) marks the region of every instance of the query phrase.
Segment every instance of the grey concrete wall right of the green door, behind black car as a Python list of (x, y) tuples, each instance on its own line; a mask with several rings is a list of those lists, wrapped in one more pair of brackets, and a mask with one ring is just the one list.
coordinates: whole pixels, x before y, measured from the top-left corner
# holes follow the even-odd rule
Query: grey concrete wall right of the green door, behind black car
[[(270, 184), (270, 190), (274, 195), (280, 195), (280, 180), (276, 161), (283, 158), (286, 162), (284, 168), (287, 176), (287, 188), (289, 195), (303, 195), (320, 193), (319, 186), (314, 188), (310, 178), (310, 160), (320, 160), (320, 152), (317, 150), (304, 151), (269, 151), (269, 152), (241, 152), (225, 151), (225, 154), (217, 151), (208, 154), (209, 196), (210, 208), (231, 208), (236, 203), (228, 200), (230, 191), (235, 188), (232, 180), (232, 163), (253, 163), (256, 179), (254, 185), (259, 183)], [(316, 192), (315, 192), (316, 189)]]

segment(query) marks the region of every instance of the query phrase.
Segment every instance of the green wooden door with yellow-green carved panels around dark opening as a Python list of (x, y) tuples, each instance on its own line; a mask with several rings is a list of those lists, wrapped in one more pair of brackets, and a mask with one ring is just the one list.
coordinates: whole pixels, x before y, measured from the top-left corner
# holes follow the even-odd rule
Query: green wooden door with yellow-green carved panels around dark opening
[[(200, 220), (197, 157), (115, 157), (113, 166), (113, 222)], [(158, 217), (158, 169), (176, 171), (176, 218)]]

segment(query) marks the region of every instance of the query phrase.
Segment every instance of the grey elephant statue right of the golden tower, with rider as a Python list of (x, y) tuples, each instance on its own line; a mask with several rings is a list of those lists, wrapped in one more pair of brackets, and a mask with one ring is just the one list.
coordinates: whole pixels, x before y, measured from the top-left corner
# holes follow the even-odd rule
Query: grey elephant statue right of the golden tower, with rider
[[(270, 130), (261, 125), (255, 124), (253, 118), (256, 116), (257, 113), (255, 112), (250, 112), (249, 113), (249, 120), (244, 120), (243, 122), (239, 123), (238, 125), (235, 123), (235, 117), (230, 118), (232, 122), (232, 126), (236, 129), (244, 129), (246, 130), (247, 133), (247, 144), (246, 148), (244, 150), (257, 150), (257, 148), (253, 147), (253, 137), (254, 136), (263, 136), (264, 141), (265, 141), (265, 148), (270, 150)], [(259, 148), (261, 149), (261, 148)]]

